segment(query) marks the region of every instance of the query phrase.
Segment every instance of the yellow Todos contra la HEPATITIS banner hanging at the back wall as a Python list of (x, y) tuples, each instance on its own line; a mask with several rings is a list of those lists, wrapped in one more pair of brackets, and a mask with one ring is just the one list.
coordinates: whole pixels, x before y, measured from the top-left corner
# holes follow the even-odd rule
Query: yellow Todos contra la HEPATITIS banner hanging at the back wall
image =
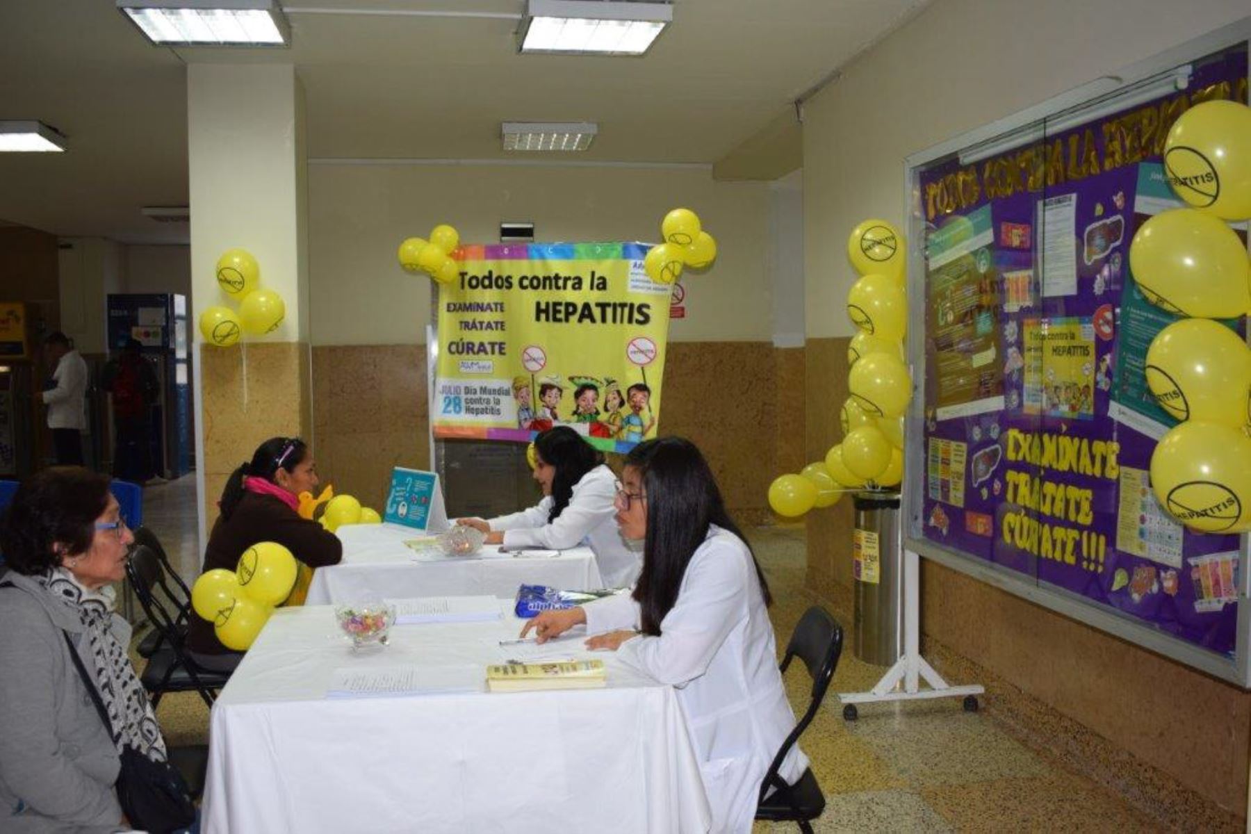
[(646, 244), (462, 246), (439, 288), (437, 438), (528, 443), (569, 425), (628, 451), (659, 425), (673, 288)]

